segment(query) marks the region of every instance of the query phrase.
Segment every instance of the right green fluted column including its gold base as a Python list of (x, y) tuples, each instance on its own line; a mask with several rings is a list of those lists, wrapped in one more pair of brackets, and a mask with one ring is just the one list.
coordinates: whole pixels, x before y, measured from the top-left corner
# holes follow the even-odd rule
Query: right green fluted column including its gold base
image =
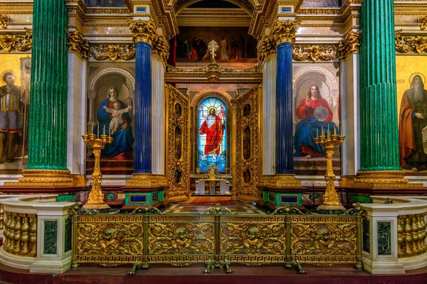
[(362, 152), (357, 182), (406, 183), (399, 166), (393, 1), (365, 0), (360, 24)]

